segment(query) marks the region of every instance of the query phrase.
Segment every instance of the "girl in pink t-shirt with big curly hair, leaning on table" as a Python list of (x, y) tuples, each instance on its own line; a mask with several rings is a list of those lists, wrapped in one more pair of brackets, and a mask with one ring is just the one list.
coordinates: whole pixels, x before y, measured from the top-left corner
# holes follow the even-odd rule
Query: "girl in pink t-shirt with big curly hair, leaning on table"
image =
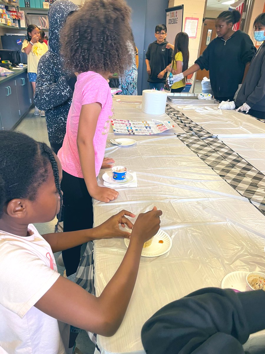
[[(66, 135), (58, 157), (63, 167), (64, 232), (93, 227), (92, 198), (110, 202), (118, 197), (111, 188), (99, 187), (101, 168), (113, 114), (107, 78), (124, 73), (130, 65), (130, 14), (122, 0), (87, 1), (82, 19), (77, 11), (64, 25), (61, 44), (66, 69), (77, 82), (69, 110)], [(113, 160), (112, 160), (113, 161)], [(66, 275), (80, 262), (80, 246), (63, 251)]]

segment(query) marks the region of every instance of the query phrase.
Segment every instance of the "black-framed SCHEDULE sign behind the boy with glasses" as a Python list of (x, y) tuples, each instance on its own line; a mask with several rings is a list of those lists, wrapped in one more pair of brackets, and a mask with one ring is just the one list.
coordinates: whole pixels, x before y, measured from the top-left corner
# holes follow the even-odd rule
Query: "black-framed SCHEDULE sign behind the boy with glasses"
[(173, 44), (176, 34), (182, 31), (184, 5), (166, 8), (166, 40)]

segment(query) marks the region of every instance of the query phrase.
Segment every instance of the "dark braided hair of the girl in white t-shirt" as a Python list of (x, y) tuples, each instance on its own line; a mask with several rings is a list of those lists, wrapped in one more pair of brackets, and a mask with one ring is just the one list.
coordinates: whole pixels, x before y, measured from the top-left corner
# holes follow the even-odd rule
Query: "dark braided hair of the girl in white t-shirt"
[[(60, 196), (60, 216), (63, 195), (52, 150), (45, 143), (36, 142), (23, 133), (0, 131), (0, 219), (10, 200), (36, 199), (38, 188), (48, 179), (49, 164), (52, 165), (55, 185)], [(58, 222), (55, 232), (57, 230)]]

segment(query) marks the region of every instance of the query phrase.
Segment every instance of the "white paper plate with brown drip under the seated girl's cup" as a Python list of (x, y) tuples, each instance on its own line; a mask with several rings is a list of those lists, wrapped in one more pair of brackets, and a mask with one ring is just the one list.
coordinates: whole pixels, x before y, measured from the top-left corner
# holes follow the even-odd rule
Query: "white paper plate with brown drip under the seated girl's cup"
[[(164, 241), (163, 244), (158, 241)], [(128, 247), (130, 239), (124, 239), (125, 246)], [(141, 256), (143, 257), (157, 257), (164, 255), (172, 247), (172, 240), (170, 236), (163, 230), (159, 230), (156, 235), (154, 235), (153, 242), (151, 246), (143, 248)]]

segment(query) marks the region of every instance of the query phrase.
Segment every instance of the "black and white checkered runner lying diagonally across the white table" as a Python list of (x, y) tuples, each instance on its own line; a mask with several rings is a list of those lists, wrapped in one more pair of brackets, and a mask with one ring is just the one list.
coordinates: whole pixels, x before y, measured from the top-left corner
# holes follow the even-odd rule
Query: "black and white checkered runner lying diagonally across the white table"
[(183, 113), (170, 105), (167, 105), (166, 113), (186, 132), (178, 138), (231, 187), (265, 214), (264, 174)]

